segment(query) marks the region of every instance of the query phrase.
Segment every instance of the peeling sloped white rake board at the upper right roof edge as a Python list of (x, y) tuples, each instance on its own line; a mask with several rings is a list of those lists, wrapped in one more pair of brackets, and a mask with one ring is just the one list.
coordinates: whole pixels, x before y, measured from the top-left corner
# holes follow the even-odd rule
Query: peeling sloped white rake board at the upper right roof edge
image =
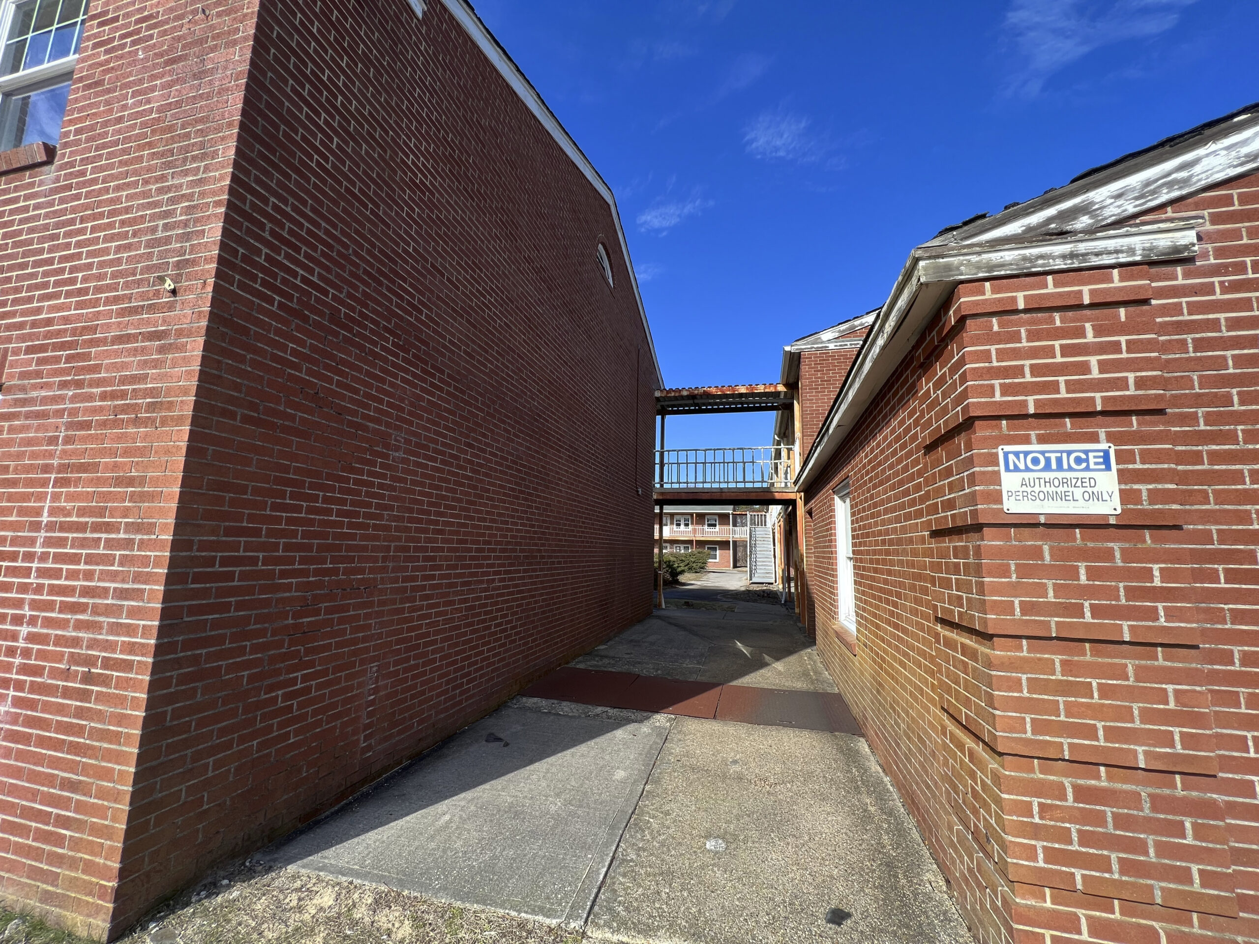
[(1256, 169), (1259, 116), (1243, 115), (1206, 140), (1117, 165), (968, 227), (958, 243), (1099, 229)]

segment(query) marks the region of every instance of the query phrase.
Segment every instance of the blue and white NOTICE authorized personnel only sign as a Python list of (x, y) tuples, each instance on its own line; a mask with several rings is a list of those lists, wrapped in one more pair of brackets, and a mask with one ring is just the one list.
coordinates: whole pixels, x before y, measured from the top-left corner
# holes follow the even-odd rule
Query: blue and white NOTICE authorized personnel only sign
[(1118, 515), (1114, 447), (1002, 446), (1001, 502), (1012, 515)]

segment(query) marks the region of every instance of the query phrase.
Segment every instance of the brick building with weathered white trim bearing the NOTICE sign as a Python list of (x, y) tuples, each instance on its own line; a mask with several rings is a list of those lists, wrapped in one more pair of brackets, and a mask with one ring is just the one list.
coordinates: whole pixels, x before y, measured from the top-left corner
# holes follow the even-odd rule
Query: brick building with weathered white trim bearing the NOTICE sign
[[(788, 349), (797, 599), (985, 944), (1259, 940), (1256, 298), (1251, 106), (915, 248), (842, 378)], [(1061, 446), (1118, 514), (1006, 511)]]

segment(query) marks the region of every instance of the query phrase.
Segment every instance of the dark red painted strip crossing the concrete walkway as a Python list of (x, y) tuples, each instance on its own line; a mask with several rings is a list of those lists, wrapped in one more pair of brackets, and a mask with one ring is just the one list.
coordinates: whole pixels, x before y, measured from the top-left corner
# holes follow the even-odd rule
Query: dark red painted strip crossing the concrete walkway
[(525, 688), (521, 695), (749, 725), (861, 734), (844, 697), (825, 691), (690, 682), (564, 666)]

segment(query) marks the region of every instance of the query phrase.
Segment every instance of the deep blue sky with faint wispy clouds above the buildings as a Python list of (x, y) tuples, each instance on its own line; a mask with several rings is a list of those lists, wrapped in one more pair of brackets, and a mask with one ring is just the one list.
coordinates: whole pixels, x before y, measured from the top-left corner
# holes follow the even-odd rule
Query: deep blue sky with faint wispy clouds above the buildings
[(476, 8), (616, 191), (670, 386), (774, 381), (942, 227), (1259, 99), (1256, 0)]

